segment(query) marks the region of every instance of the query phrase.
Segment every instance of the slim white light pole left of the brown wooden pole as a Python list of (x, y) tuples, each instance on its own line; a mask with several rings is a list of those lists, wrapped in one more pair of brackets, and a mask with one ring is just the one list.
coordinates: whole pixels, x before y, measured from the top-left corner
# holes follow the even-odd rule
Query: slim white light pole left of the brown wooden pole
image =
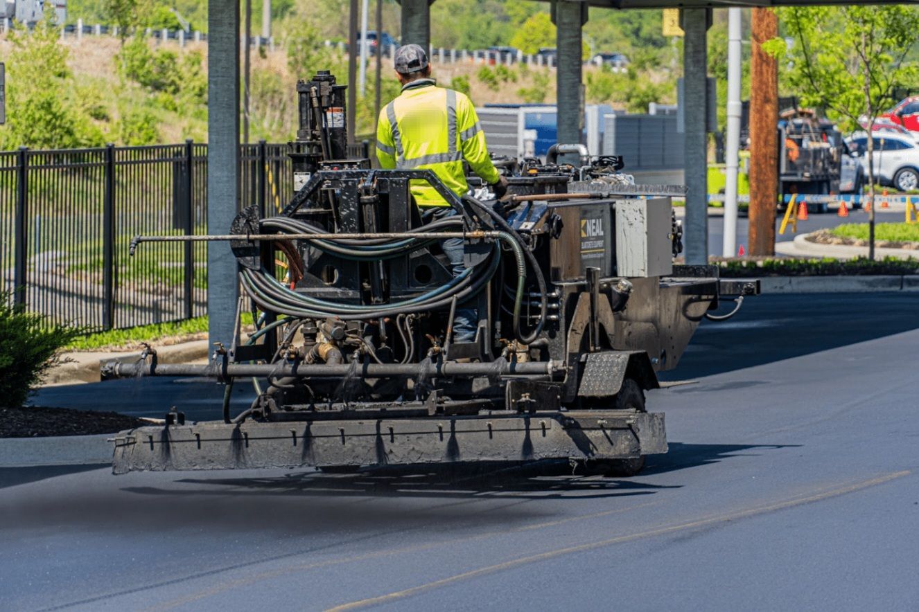
[(724, 240), (721, 255), (737, 254), (737, 171), (741, 145), (741, 36), (740, 8), (728, 9), (728, 137), (725, 143), (727, 174), (724, 183)]

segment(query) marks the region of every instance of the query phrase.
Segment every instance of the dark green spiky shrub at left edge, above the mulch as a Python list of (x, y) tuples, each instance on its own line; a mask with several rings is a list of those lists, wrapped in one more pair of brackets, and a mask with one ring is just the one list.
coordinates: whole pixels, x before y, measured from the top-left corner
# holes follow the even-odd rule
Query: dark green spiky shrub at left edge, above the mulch
[(61, 348), (83, 331), (51, 324), (43, 315), (14, 306), (10, 292), (0, 293), (0, 406), (23, 406), (48, 369), (60, 362)]

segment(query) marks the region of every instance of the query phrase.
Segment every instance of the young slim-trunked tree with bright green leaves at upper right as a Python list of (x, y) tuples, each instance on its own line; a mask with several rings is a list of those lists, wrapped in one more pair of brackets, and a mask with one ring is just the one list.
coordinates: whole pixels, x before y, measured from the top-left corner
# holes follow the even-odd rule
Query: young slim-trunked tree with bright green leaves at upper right
[[(826, 109), (843, 128), (864, 122), (870, 135), (896, 87), (915, 83), (917, 66), (905, 61), (919, 31), (919, 9), (910, 6), (794, 7), (780, 18), (794, 44), (766, 43), (806, 106)], [(873, 199), (874, 146), (868, 138), (868, 184)], [(874, 206), (868, 256), (874, 258)]]

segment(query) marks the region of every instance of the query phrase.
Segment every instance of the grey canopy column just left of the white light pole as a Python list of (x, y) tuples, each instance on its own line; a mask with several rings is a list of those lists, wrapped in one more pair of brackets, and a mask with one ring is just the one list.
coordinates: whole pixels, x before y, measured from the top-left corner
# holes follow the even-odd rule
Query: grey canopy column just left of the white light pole
[(683, 9), (683, 116), (684, 167), (686, 169), (686, 218), (684, 242), (686, 263), (709, 262), (708, 117), (707, 67), (709, 65), (706, 34), (710, 9)]

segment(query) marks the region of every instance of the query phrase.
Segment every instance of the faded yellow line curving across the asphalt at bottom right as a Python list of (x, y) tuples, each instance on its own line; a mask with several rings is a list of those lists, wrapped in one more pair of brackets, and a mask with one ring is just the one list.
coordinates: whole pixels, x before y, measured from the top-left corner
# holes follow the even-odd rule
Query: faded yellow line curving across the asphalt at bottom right
[(496, 563), (494, 565), (489, 565), (487, 567), (482, 567), (477, 570), (471, 570), (470, 572), (458, 573), (448, 578), (442, 578), (441, 580), (436, 580), (427, 584), (420, 584), (412, 588), (405, 589), (403, 591), (395, 591), (387, 595), (380, 595), (377, 597), (369, 597), (367, 599), (361, 599), (354, 601), (348, 604), (342, 604), (341, 606), (335, 606), (329, 608), (328, 612), (341, 612), (343, 610), (353, 610), (358, 607), (365, 606), (375, 606), (377, 604), (384, 604), (387, 602), (394, 601), (396, 599), (402, 599), (403, 597), (410, 597), (412, 595), (417, 595), (424, 591), (435, 589), (440, 586), (446, 586), (448, 584), (457, 583), (461, 580), (466, 580), (467, 578), (477, 578), (479, 576), (502, 572), (504, 570), (510, 570), (520, 565), (527, 563), (534, 563), (545, 561), (547, 559), (552, 559), (554, 557), (561, 557), (562, 555), (572, 554), (574, 552), (584, 552), (591, 551), (594, 549), (602, 548), (605, 546), (610, 546), (612, 544), (619, 544), (622, 542), (628, 542), (631, 540), (641, 540), (642, 538), (653, 538), (656, 536), (663, 536), (668, 533), (673, 533), (675, 531), (681, 531), (684, 529), (698, 529), (700, 527), (706, 527), (708, 525), (713, 525), (716, 523), (729, 522), (732, 520), (737, 520), (739, 518), (754, 517), (756, 515), (766, 514), (768, 512), (775, 512), (777, 510), (782, 510), (785, 508), (793, 506), (801, 506), (803, 504), (811, 504), (812, 502), (822, 501), (831, 497), (837, 497), (839, 495), (845, 495), (848, 493), (853, 493), (855, 491), (860, 491), (861, 489), (868, 488), (869, 486), (874, 486), (876, 484), (883, 484), (890, 482), (895, 478), (900, 478), (902, 476), (910, 473), (909, 470), (903, 470), (902, 472), (890, 473), (884, 476), (879, 476), (878, 478), (872, 478), (871, 480), (862, 481), (857, 484), (850, 484), (838, 489), (831, 491), (826, 491), (817, 495), (809, 495), (807, 497), (800, 497), (798, 499), (791, 499), (782, 502), (777, 502), (775, 504), (770, 504), (767, 506), (759, 506), (754, 508), (749, 508), (747, 510), (739, 510), (737, 512), (727, 513), (719, 516), (700, 518), (698, 520), (688, 521), (686, 523), (678, 523), (676, 525), (670, 525), (668, 527), (662, 527), (658, 529), (649, 529), (647, 531), (641, 531), (639, 533), (632, 533), (630, 535), (618, 536), (616, 538), (609, 538), (608, 540), (599, 540), (596, 542), (589, 542), (587, 544), (581, 544), (579, 546), (569, 546), (567, 548), (556, 549), (554, 551), (540, 552), (539, 554), (529, 555), (527, 557), (520, 557), (519, 559), (514, 559), (512, 561)]

